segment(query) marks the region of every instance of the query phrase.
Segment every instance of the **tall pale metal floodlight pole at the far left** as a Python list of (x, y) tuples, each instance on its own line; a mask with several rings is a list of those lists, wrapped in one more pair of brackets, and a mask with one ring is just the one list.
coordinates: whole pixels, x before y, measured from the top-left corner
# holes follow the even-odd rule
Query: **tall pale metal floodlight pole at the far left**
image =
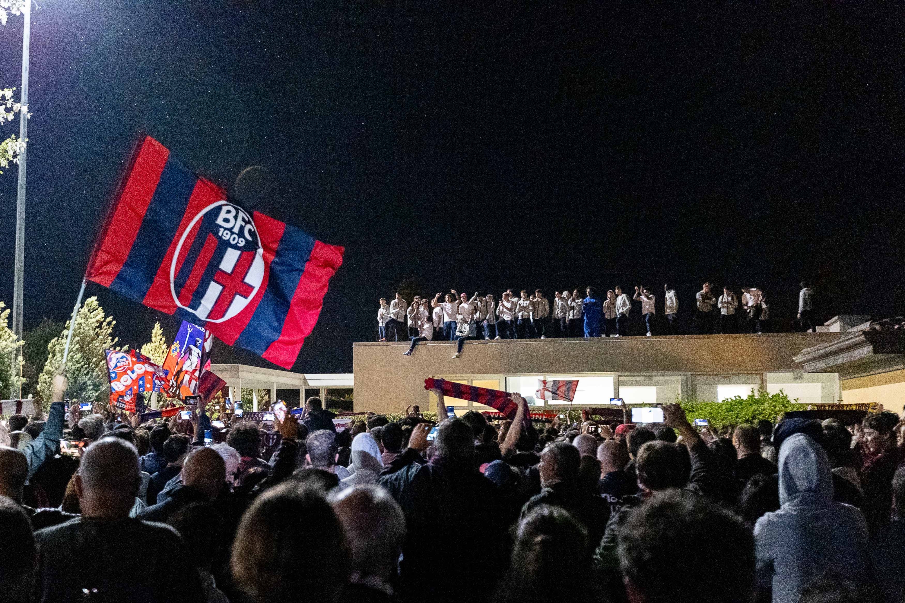
[[(26, 0), (24, 10), (24, 27), (22, 30), (22, 108), (19, 109), (19, 141), (28, 139), (28, 50), (32, 33), (32, 0)], [(23, 291), (25, 275), (25, 155), (23, 147), (19, 154), (19, 187), (15, 197), (15, 260), (13, 277), (13, 333), (17, 341), (22, 341), (23, 323)], [(19, 352), (21, 353), (21, 351)], [(13, 353), (14, 361), (18, 353)], [(13, 363), (15, 366), (15, 362)], [(19, 385), (19, 397), (22, 397), (22, 385)]]

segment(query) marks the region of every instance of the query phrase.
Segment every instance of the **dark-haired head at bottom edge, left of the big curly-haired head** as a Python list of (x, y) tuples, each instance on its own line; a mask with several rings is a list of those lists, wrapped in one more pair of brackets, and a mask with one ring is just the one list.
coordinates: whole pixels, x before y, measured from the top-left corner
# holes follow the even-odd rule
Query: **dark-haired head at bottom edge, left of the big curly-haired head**
[[(497, 600), (535, 603), (588, 600), (590, 555), (585, 527), (557, 506), (541, 504), (519, 522), (510, 570)], [(563, 576), (573, 579), (563, 580)]]

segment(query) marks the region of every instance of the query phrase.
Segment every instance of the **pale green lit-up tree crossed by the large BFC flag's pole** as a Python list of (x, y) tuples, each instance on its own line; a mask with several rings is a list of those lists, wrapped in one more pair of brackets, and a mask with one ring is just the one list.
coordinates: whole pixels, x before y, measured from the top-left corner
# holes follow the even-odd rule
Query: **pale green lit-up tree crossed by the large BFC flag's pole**
[[(69, 322), (66, 321), (62, 333), (54, 337), (47, 345), (47, 362), (44, 363), (41, 376), (38, 377), (38, 393), (43, 400), (50, 400), (53, 375), (62, 364), (63, 348), (69, 334)], [(113, 337), (112, 316), (105, 316), (97, 297), (89, 297), (79, 309), (72, 332), (72, 344), (66, 360), (66, 377), (69, 379), (70, 398), (81, 401), (110, 400), (110, 376), (107, 372), (106, 349), (125, 350), (113, 347), (117, 339)]]

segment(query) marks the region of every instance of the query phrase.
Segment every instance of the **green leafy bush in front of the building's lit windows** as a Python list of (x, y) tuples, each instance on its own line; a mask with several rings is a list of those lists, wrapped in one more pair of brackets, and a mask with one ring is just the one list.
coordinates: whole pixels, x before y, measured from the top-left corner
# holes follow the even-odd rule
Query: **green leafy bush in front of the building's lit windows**
[(760, 419), (767, 419), (776, 423), (783, 413), (790, 410), (807, 410), (806, 404), (799, 404), (798, 400), (789, 400), (785, 391), (768, 393), (767, 390), (754, 390), (747, 398), (736, 396), (721, 402), (706, 400), (676, 400), (688, 416), (689, 421), (694, 419), (710, 419), (716, 428), (724, 425), (741, 425), (742, 423), (756, 424)]

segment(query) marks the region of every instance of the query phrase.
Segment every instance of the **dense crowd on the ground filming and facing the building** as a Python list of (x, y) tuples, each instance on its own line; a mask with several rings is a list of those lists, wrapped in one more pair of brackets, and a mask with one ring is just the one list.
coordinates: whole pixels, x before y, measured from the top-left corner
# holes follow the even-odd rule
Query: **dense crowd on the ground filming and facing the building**
[(434, 390), (437, 422), (415, 408), (337, 431), (317, 398), (262, 426), (204, 405), (81, 417), (65, 390), (57, 376), (46, 420), (0, 429), (0, 601), (905, 596), (905, 424), (889, 411), (718, 430), (671, 404), (657, 425), (536, 425), (518, 394), (494, 422), (450, 417)]

